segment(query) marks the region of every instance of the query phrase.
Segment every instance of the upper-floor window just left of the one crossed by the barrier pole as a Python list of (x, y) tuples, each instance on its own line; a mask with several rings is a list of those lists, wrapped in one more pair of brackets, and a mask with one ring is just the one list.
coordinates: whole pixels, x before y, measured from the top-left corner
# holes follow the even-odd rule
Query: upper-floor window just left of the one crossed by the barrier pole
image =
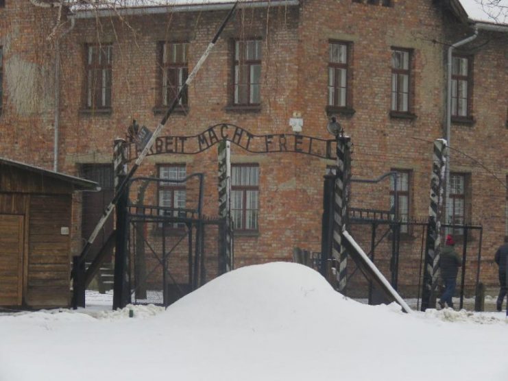
[(112, 58), (112, 45), (86, 47), (87, 108), (111, 107)]

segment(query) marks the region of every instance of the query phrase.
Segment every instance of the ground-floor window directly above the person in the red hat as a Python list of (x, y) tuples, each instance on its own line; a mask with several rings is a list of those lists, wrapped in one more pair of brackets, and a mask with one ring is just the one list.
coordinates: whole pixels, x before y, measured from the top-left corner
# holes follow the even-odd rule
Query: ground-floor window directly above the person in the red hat
[[(446, 223), (463, 225), (465, 221), (465, 174), (450, 173), (450, 197), (446, 203)], [(447, 234), (462, 236), (463, 229), (448, 228)]]

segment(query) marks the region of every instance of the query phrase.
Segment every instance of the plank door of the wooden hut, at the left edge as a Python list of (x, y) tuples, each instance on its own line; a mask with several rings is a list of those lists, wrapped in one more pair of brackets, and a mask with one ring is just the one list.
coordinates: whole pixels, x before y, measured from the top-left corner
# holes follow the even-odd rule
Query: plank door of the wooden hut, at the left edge
[(0, 306), (23, 302), (24, 218), (0, 214)]

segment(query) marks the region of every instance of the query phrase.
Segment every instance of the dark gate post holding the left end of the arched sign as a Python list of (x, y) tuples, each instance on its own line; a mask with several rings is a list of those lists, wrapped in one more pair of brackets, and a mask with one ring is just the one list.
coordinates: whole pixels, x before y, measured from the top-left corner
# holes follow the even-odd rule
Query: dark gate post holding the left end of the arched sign
[[(123, 182), (123, 179), (127, 175), (126, 162), (125, 140), (115, 139), (113, 151), (115, 191), (119, 190), (119, 184)], [(117, 243), (114, 249), (113, 310), (125, 307), (128, 296), (125, 293), (125, 271), (127, 270), (127, 234), (129, 229), (127, 221), (128, 198), (128, 188), (125, 188), (117, 204)]]

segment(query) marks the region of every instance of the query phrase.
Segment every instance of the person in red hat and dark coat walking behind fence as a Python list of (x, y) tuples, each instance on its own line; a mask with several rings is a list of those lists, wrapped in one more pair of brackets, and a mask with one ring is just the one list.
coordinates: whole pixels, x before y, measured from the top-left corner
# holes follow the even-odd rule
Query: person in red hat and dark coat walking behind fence
[(446, 236), (446, 245), (441, 250), (439, 256), (439, 269), (441, 269), (441, 278), (444, 282), (444, 293), (439, 299), (439, 306), (444, 308), (446, 303), (448, 307), (453, 308), (452, 297), (455, 293), (455, 286), (457, 286), (457, 273), (459, 267), (462, 265), (459, 254), (453, 249), (455, 241), (453, 237), (448, 234)]

